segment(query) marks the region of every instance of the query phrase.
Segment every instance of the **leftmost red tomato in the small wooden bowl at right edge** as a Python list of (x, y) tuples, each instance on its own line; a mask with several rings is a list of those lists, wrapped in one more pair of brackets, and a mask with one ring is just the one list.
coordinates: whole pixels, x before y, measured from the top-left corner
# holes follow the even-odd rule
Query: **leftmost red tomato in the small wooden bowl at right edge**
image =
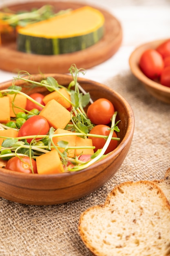
[(141, 55), (139, 66), (150, 79), (157, 79), (164, 67), (163, 58), (155, 49), (147, 49)]

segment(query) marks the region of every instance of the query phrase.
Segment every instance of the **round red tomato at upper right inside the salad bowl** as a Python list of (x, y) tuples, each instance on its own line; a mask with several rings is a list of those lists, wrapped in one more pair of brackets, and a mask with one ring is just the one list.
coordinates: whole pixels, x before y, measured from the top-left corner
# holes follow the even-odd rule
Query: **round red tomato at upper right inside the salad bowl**
[(93, 124), (109, 124), (115, 112), (113, 104), (108, 99), (97, 99), (87, 109), (87, 116)]

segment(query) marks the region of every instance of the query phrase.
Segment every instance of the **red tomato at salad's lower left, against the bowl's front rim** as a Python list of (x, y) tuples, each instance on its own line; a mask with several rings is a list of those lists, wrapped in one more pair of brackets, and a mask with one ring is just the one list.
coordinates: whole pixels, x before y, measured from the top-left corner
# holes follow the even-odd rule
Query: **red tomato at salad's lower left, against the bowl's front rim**
[[(31, 162), (33, 166), (33, 172), (37, 173), (37, 165), (35, 160), (31, 158)], [(19, 173), (32, 173), (29, 157), (12, 157), (8, 160), (5, 168)]]

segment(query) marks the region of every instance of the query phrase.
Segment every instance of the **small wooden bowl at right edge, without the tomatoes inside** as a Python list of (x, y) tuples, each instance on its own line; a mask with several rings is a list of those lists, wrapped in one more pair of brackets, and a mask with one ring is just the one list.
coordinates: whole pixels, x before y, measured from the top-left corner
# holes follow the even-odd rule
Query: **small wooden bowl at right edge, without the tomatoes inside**
[(163, 41), (165, 40), (157, 40), (137, 47), (130, 55), (129, 65), (134, 76), (136, 76), (144, 84), (144, 87), (152, 96), (160, 101), (170, 104), (170, 88), (149, 79), (146, 75), (144, 75), (139, 67), (139, 59), (141, 54), (146, 49), (155, 49), (159, 44), (163, 43)]

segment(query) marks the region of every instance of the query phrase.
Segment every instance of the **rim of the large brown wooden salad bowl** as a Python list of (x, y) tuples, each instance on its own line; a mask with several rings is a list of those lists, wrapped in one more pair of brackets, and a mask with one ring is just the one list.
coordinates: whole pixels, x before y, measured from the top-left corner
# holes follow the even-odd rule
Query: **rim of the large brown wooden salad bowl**
[[(69, 74), (43, 74), (43, 76), (60, 76), (60, 77), (63, 77), (63, 78), (71, 78), (71, 75)], [(42, 77), (41, 74), (31, 74), (31, 76), (33, 77)], [(3, 85), (3, 87), (5, 85), (7, 85), (8, 83), (12, 83), (13, 80), (9, 80), (9, 81), (6, 81), (6, 82), (2, 82), (0, 83), (0, 87)], [(105, 88), (106, 90), (112, 92), (114, 94), (114, 96), (119, 99), (119, 101), (121, 101), (121, 103), (124, 104), (124, 107), (126, 108), (127, 112), (128, 112), (128, 115), (129, 115), (129, 118), (128, 118), (128, 124), (127, 124), (127, 130), (126, 130), (126, 134), (124, 136), (124, 138), (122, 139), (122, 141), (120, 142), (120, 144), (117, 146), (117, 148), (111, 152), (108, 156), (106, 156), (104, 159), (102, 160), (99, 160), (97, 161), (96, 163), (94, 163), (92, 166), (93, 168), (96, 168), (97, 166), (99, 166), (102, 162), (102, 164), (104, 162), (107, 162), (109, 159), (112, 159), (113, 157), (115, 157), (116, 155), (119, 155), (121, 154), (121, 150), (128, 144), (128, 142), (131, 140), (132, 136), (133, 136), (133, 132), (134, 132), (134, 128), (135, 128), (135, 118), (134, 118), (134, 114), (133, 114), (133, 111), (132, 111), (132, 108), (130, 106), (130, 104), (128, 103), (128, 101), (126, 101), (126, 99), (124, 97), (122, 97), (118, 92), (115, 92), (112, 88), (102, 84), (102, 83), (98, 83), (98, 82), (95, 82), (93, 80), (90, 80), (90, 79), (85, 79), (85, 78), (82, 78), (82, 77), (79, 77), (78, 78), (78, 82), (86, 82), (86, 83), (91, 83), (91, 84), (94, 84), (95, 86), (98, 86), (99, 88)], [(81, 173), (84, 173), (84, 172), (87, 172), (87, 171), (91, 171), (93, 168), (92, 166), (86, 168), (86, 169), (83, 169), (83, 170), (80, 170), (80, 171), (75, 171), (75, 172), (66, 172), (66, 173), (56, 173), (56, 174), (33, 174), (33, 173), (30, 173), (30, 174), (27, 174), (27, 173), (18, 173), (18, 172), (15, 172), (15, 171), (10, 171), (8, 169), (5, 169), (5, 168), (0, 168), (0, 174), (4, 174), (4, 175), (10, 175), (10, 177), (15, 177), (15, 178), (23, 178), (23, 179), (27, 179), (27, 180), (32, 180), (33, 178), (36, 179), (36, 180), (44, 180), (44, 179), (51, 179), (51, 178), (58, 178), (58, 179), (62, 179), (64, 177), (67, 177), (67, 176), (72, 176), (72, 175), (78, 175)], [(102, 171), (101, 171), (102, 172)]]

